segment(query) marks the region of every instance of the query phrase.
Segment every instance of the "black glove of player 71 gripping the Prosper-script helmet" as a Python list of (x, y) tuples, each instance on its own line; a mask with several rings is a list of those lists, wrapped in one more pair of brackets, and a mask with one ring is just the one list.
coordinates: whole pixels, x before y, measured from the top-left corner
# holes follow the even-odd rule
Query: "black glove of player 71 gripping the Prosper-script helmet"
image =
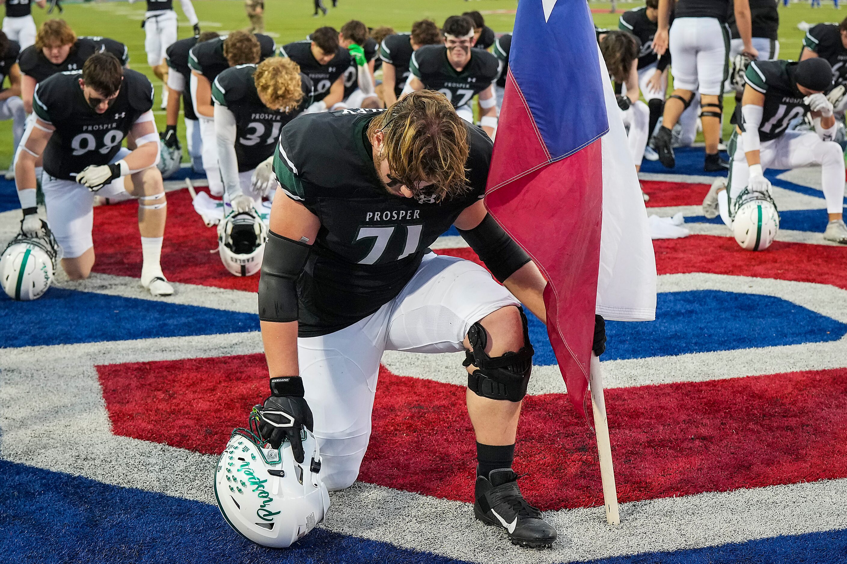
[(298, 377), (270, 379), (271, 395), (260, 410), (259, 433), (272, 448), (278, 449), (283, 440), (291, 442), (294, 459), (305, 458), (300, 437), (305, 426), (313, 430), (312, 410), (303, 398), (303, 381)]

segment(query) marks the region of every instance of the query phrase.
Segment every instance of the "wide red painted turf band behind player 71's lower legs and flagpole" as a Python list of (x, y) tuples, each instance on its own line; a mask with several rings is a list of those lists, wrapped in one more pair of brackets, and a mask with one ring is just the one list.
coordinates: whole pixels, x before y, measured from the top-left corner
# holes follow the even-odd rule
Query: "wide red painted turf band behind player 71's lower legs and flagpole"
[[(267, 395), (262, 355), (97, 372), (115, 434), (208, 454)], [(383, 369), (359, 478), (470, 501), (464, 397), (462, 386)], [(847, 368), (613, 389), (606, 401), (621, 501), (847, 477)], [(595, 438), (566, 395), (528, 396), (518, 436), (529, 500), (545, 510), (602, 505)]]

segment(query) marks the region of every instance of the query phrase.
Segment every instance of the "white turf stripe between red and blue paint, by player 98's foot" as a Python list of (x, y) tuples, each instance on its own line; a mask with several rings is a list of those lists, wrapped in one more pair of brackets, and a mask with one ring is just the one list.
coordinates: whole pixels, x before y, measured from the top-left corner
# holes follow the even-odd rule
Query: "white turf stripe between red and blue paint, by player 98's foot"
[(57, 280), (55, 285), (67, 290), (97, 292), (98, 294), (106, 294), (108, 296), (130, 297), (139, 300), (180, 304), (183, 306), (210, 307), (230, 312), (254, 313), (258, 315), (257, 295), (254, 292), (171, 282), (170, 284), (176, 290), (173, 296), (154, 297), (146, 288), (141, 286), (140, 279), (130, 276), (92, 273), (85, 280), (69, 280), (64, 276), (62, 278), (64, 280)]

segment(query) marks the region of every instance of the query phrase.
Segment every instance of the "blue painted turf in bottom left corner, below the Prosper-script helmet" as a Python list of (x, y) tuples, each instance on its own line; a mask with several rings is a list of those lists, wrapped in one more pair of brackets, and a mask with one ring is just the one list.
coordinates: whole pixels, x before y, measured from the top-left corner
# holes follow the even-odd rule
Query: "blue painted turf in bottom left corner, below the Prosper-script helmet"
[(459, 564), (322, 528), (289, 549), (265, 549), (236, 534), (217, 506), (6, 461), (0, 477), (4, 564)]

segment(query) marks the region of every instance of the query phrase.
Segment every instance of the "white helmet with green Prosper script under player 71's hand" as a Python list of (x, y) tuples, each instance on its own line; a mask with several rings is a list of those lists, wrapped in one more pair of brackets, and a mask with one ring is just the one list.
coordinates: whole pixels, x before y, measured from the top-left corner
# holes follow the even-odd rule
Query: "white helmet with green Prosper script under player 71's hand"
[[(256, 406), (250, 419), (257, 431)], [(329, 492), (320, 478), (318, 441), (303, 429), (303, 464), (294, 460), (291, 443), (263, 448), (258, 433), (235, 429), (214, 475), (221, 514), (236, 532), (257, 545), (286, 548), (324, 520)]]

